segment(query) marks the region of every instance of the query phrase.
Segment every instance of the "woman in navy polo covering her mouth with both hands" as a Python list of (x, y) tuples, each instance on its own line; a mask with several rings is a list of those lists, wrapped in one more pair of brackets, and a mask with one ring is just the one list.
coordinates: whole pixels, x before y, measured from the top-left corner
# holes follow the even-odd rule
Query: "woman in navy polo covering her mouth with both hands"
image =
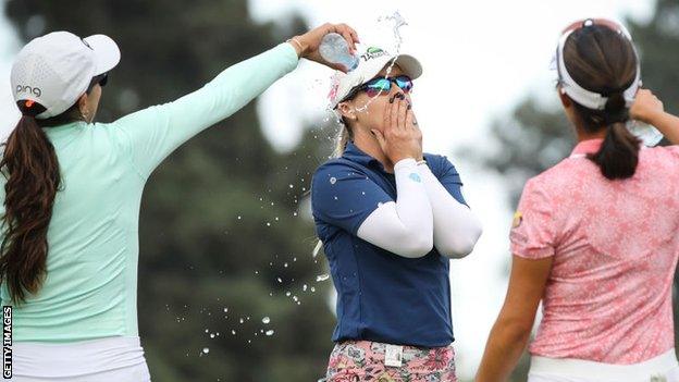
[(411, 56), (369, 48), (331, 91), (342, 155), (311, 192), (337, 291), (329, 382), (456, 380), (448, 266), (471, 252), (481, 224), (455, 167), (422, 153), (409, 95), (421, 73)]

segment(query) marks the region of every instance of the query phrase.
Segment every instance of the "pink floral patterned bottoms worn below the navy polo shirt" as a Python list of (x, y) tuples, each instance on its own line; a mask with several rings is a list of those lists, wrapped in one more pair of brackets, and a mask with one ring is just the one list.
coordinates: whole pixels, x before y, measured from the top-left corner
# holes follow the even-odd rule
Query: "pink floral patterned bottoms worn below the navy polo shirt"
[[(448, 347), (403, 347), (400, 367), (385, 366), (386, 344), (347, 341), (330, 356), (326, 382), (456, 382), (455, 350)], [(323, 381), (323, 380), (321, 380)]]

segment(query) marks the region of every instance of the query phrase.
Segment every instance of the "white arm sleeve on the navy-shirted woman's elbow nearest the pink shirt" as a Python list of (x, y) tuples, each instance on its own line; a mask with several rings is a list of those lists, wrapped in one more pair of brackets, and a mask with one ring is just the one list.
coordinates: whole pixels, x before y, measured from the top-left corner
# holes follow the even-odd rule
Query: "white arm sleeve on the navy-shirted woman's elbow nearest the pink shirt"
[(434, 246), (445, 257), (458, 259), (469, 255), (483, 232), (481, 221), (445, 189), (429, 165), (418, 169), (434, 214)]

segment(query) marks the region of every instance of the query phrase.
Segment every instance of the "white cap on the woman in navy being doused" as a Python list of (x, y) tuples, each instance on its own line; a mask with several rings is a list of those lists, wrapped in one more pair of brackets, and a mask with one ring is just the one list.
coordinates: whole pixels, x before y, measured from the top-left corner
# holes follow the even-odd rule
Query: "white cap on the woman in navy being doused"
[(392, 56), (380, 48), (370, 47), (359, 57), (358, 66), (349, 73), (337, 71), (330, 90), (330, 106), (336, 108), (355, 87), (374, 78), (384, 66), (396, 60), (403, 72), (415, 79), (422, 75), (422, 65), (410, 54)]

